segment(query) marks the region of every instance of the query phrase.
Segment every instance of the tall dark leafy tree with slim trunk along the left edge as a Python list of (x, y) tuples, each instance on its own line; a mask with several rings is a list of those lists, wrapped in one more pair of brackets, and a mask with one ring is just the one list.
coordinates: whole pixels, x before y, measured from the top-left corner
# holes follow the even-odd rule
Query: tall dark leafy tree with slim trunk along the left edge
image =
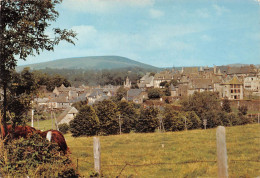
[(59, 16), (55, 8), (61, 1), (0, 1), (0, 85), (4, 92), (2, 124), (5, 131), (8, 84), (17, 60), (26, 60), (42, 50), (53, 50), (62, 40), (74, 44), (73, 31), (55, 28), (53, 38), (46, 34), (47, 27)]

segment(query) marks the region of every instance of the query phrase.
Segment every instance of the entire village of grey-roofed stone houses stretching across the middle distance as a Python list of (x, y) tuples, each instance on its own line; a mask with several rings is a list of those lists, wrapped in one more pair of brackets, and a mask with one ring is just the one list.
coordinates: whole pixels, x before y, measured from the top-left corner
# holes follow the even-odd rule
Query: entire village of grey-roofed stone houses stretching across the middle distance
[[(171, 81), (176, 81), (173, 84)], [(168, 86), (170, 95), (162, 96), (157, 101), (149, 102), (148, 90), (151, 88), (164, 89)], [(76, 114), (77, 109), (73, 103), (87, 101), (93, 105), (99, 101), (116, 96), (120, 87), (127, 92), (122, 101), (136, 104), (163, 105), (165, 102), (178, 101), (183, 97), (191, 96), (194, 92), (218, 92), (219, 97), (227, 98), (234, 105), (244, 103), (249, 108), (257, 110), (260, 97), (260, 70), (254, 65), (241, 67), (214, 66), (214, 67), (182, 67), (181, 70), (166, 69), (155, 74), (147, 73), (138, 81), (138, 88), (132, 88), (127, 77), (123, 86), (85, 86), (55, 87), (48, 92), (45, 86), (40, 88), (40, 97), (34, 99), (34, 106), (38, 109), (64, 111), (57, 119), (57, 124), (69, 123)], [(252, 101), (253, 100), (253, 101)], [(66, 118), (66, 119), (64, 119)]]

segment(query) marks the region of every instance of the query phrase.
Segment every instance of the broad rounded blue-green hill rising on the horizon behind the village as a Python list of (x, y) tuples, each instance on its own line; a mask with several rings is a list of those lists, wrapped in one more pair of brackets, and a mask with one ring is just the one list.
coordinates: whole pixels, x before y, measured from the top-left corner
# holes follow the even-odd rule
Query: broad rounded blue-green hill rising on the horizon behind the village
[(42, 62), (36, 64), (28, 64), (23, 66), (18, 66), (17, 70), (22, 70), (24, 67), (30, 67), (32, 70), (39, 70), (45, 68), (52, 69), (120, 69), (128, 67), (139, 67), (144, 69), (154, 69), (159, 68), (144, 64), (141, 62), (134, 61), (132, 59), (121, 57), (121, 56), (89, 56), (89, 57), (74, 57), (58, 59), (49, 62)]

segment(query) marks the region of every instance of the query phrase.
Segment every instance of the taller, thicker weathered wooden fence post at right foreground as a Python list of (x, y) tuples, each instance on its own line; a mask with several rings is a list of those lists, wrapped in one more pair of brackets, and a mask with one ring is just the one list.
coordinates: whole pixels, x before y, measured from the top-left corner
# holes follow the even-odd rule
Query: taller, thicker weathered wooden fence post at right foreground
[(227, 163), (227, 146), (226, 146), (226, 131), (225, 127), (217, 127), (217, 163), (218, 163), (218, 177), (228, 177), (228, 163)]

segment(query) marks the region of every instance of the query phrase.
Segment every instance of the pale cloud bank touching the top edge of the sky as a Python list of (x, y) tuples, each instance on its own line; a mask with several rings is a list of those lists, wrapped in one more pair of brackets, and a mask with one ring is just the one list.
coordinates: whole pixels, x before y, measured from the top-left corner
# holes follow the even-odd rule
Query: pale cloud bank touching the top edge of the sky
[(84, 13), (109, 13), (122, 8), (151, 7), (154, 0), (64, 0), (63, 7)]

